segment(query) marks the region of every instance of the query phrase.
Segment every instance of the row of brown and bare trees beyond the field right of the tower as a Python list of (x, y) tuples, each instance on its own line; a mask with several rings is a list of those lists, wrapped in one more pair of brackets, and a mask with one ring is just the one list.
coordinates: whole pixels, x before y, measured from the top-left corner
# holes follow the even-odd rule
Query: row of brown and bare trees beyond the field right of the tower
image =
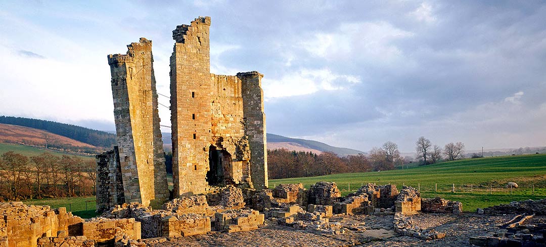
[(464, 158), (465, 144), (448, 143), (443, 150), (432, 145), (429, 139), (420, 137), (416, 142), (417, 157), (402, 157), (398, 145), (385, 142), (372, 148), (367, 155), (339, 157), (334, 152), (314, 154), (287, 149), (268, 150), (268, 175), (270, 179), (313, 177), (334, 173), (370, 172), (392, 170), (414, 160), (420, 165), (433, 164), (443, 160)]

